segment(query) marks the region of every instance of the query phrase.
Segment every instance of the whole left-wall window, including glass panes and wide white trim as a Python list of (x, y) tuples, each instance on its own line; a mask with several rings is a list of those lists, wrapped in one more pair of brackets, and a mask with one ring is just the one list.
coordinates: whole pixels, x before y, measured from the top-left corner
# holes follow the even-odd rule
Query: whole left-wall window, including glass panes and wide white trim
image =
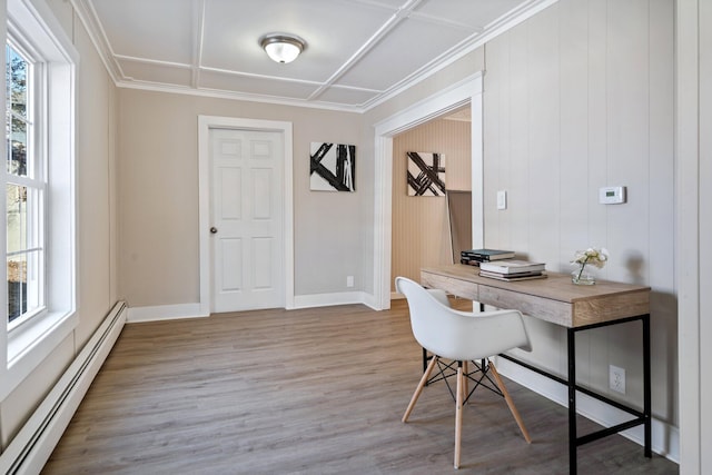
[(75, 110), (78, 55), (44, 0), (7, 0), (6, 289), (0, 400), (77, 327)]

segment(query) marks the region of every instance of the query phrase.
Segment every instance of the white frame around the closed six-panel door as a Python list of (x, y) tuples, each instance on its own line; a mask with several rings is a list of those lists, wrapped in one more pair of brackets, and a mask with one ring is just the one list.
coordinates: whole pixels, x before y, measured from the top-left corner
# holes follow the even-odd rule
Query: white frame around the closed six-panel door
[(210, 278), (210, 129), (279, 132), (284, 157), (284, 291), (285, 308), (294, 308), (294, 157), (291, 122), (220, 116), (198, 116), (198, 243), (200, 266), (200, 315), (212, 310)]

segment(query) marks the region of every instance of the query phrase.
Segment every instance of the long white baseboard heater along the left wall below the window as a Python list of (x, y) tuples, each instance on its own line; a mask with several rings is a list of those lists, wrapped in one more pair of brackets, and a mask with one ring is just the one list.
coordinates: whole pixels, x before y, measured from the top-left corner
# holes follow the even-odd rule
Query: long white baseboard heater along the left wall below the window
[(39, 474), (123, 328), (126, 303), (119, 301), (76, 356), (7, 449), (0, 474)]

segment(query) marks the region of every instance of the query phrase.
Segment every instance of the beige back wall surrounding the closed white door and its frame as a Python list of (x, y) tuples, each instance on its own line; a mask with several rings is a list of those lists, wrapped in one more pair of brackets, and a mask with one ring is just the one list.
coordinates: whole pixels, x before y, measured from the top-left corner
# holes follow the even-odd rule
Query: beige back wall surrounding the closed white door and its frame
[[(119, 294), (131, 307), (199, 301), (199, 115), (293, 122), (295, 295), (363, 289), (359, 115), (134, 89), (119, 101)], [(309, 190), (312, 141), (356, 145), (355, 192)]]

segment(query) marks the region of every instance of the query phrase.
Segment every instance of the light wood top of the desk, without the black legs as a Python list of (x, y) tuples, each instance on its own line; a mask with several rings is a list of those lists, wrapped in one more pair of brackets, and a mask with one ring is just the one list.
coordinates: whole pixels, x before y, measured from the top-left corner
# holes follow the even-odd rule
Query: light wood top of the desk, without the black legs
[(547, 271), (547, 278), (502, 281), (479, 277), (479, 268), (455, 264), (421, 270), (421, 283), (497, 308), (514, 308), (565, 327), (578, 327), (650, 313), (650, 287), (596, 280), (572, 284), (571, 275)]

